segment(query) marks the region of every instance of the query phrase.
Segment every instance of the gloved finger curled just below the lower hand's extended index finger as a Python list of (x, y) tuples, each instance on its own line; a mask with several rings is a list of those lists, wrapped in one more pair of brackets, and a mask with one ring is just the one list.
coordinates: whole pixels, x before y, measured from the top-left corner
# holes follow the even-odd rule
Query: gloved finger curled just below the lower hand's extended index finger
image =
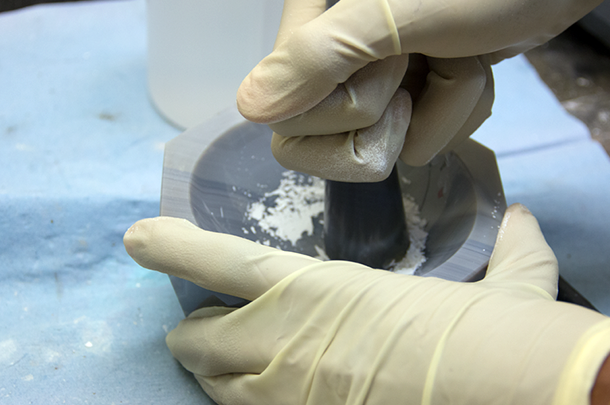
[[(325, 299), (334, 299), (336, 293), (333, 294), (331, 276), (336, 272), (332, 272), (332, 268), (345, 265), (353, 264), (318, 262), (321, 268), (317, 268), (316, 274), (322, 278), (312, 281), (309, 277), (309, 283), (301, 281), (287, 292), (286, 287), (292, 285), (303, 271), (316, 269), (308, 266), (284, 278), (267, 294), (234, 311), (227, 308), (196, 310), (167, 335), (166, 343), (173, 356), (187, 370), (199, 376), (261, 373), (295, 333), (299, 333), (310, 311), (317, 313), (316, 305)], [(332, 318), (331, 312), (325, 311), (320, 316)], [(318, 323), (318, 328), (317, 333), (307, 335), (310, 343), (319, 338), (317, 335), (325, 336), (324, 325)]]

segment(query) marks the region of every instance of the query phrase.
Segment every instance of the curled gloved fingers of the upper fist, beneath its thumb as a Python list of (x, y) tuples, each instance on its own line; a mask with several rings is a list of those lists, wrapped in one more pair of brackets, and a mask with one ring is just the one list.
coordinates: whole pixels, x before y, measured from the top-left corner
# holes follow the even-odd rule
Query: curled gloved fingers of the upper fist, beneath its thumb
[(271, 150), (291, 170), (381, 181), (399, 157), (423, 165), (468, 138), (491, 115), (493, 98), (486, 58), (391, 56), (357, 71), (311, 110), (270, 124)]

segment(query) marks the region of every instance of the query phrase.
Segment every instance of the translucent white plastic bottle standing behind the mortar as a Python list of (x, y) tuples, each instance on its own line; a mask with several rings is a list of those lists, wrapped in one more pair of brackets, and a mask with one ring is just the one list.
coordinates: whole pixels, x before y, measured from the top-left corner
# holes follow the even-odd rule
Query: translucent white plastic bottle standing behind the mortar
[(189, 128), (235, 104), (273, 49), (282, 0), (148, 0), (148, 87), (169, 122)]

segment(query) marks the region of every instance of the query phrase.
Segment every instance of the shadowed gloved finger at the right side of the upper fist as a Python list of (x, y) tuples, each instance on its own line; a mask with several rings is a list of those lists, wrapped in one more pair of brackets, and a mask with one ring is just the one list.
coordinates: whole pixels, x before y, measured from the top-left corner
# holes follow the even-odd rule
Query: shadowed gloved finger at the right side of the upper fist
[[(413, 115), (400, 159), (423, 166), (459, 135), (478, 127), (491, 114), (488, 67), (477, 57), (428, 58), (426, 86), (413, 103)], [(488, 90), (489, 91), (489, 90)], [(462, 130), (463, 128), (463, 130)]]

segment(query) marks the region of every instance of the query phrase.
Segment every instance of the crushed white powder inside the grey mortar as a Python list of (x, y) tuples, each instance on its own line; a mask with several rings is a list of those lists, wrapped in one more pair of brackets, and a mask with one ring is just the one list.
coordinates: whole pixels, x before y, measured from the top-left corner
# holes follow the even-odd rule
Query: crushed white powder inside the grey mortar
[[(405, 178), (402, 181), (409, 183)], [(404, 196), (403, 204), (411, 244), (405, 258), (393, 266), (393, 271), (413, 274), (426, 261), (424, 250), (428, 233), (424, 230), (426, 220), (420, 217), (419, 207), (413, 198)], [(282, 173), (277, 189), (248, 205), (246, 216), (257, 221), (260, 229), (267, 234), (294, 246), (300, 239), (313, 235), (315, 219), (320, 218), (323, 212), (324, 180), (288, 170)], [(254, 229), (251, 231), (255, 232)], [(259, 242), (269, 244), (266, 239)], [(319, 246), (314, 248), (317, 258), (328, 260), (324, 249)]]

